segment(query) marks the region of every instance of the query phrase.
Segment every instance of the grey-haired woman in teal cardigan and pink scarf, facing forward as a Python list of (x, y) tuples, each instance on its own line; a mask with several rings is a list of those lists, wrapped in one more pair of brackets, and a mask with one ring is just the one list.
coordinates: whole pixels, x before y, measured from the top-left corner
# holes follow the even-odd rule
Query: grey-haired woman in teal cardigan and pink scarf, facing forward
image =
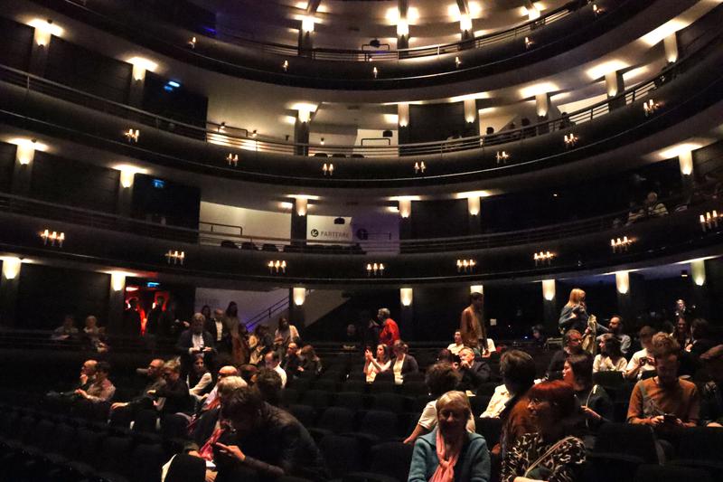
[(414, 444), (408, 482), (487, 482), (490, 452), (484, 437), (466, 430), (472, 416), (463, 392), (437, 401), (437, 428)]

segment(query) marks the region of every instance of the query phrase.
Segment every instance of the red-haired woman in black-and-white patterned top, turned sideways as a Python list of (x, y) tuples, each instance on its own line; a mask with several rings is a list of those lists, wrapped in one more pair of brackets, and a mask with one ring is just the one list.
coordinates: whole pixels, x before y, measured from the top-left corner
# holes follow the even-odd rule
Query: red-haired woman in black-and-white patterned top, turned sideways
[(518, 439), (502, 460), (501, 482), (573, 482), (585, 463), (585, 444), (569, 436), (575, 392), (565, 382), (542, 382), (528, 392), (537, 432)]

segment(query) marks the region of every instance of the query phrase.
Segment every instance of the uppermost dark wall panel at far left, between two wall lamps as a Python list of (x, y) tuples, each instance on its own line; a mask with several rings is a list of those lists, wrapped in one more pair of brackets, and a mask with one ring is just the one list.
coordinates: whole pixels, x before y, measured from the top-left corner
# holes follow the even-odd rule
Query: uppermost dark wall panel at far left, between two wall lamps
[(52, 37), (45, 77), (104, 99), (126, 102), (131, 64)]

